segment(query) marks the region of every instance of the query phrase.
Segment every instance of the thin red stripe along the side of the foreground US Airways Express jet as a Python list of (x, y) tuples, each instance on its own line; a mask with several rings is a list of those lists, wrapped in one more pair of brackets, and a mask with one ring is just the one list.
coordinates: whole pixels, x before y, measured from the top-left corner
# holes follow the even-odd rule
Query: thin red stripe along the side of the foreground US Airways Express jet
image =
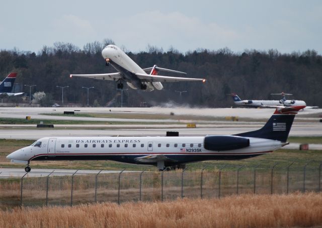
[(36, 158), (36, 157), (39, 157), (39, 156), (59, 156), (59, 155), (142, 155), (142, 156), (145, 156), (145, 155), (153, 155), (153, 154), (157, 154), (157, 155), (252, 155), (252, 154), (263, 154), (263, 153), (271, 153), (273, 151), (263, 151), (263, 152), (254, 152), (254, 153), (181, 153), (181, 152), (178, 152), (178, 153), (84, 153), (84, 154), (69, 154), (69, 153), (56, 153), (56, 154), (38, 154), (38, 155), (35, 155), (34, 157), (32, 157), (31, 159), (33, 158)]

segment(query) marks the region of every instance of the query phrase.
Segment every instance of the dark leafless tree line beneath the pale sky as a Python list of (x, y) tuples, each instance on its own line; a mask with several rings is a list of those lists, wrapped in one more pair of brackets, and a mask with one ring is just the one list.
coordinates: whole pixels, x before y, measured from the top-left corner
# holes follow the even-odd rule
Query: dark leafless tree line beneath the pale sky
[[(70, 78), (69, 74), (112, 73), (101, 56), (102, 49), (114, 44), (112, 40), (92, 42), (83, 49), (71, 43), (56, 42), (44, 46), (38, 53), (13, 50), (0, 51), (0, 78), (9, 72), (18, 72), (16, 83), (36, 84), (35, 91), (44, 91), (50, 102), (87, 104), (90, 90), (90, 105), (120, 106), (120, 90), (116, 82), (86, 78)], [(125, 50), (124, 47), (121, 46)], [(234, 53), (229, 48), (218, 50), (197, 49), (181, 53), (171, 48), (147, 46), (145, 51), (132, 53), (125, 50), (141, 68), (159, 67), (187, 72), (187, 77), (206, 78), (206, 83), (163, 83), (164, 90), (146, 92), (133, 90), (125, 84), (123, 106), (183, 104), (204, 107), (228, 107), (233, 105), (227, 95), (237, 93), (241, 99), (280, 99), (270, 93), (293, 93), (289, 99), (305, 100), (308, 105), (322, 106), (322, 56), (314, 50), (280, 53), (278, 50), (245, 50)], [(169, 74), (167, 74), (169, 75)], [(178, 76), (171, 75), (170, 76)], [(28, 87), (23, 87), (29, 93)], [(178, 92), (187, 91), (187, 92)], [(48, 102), (49, 103), (49, 102)], [(48, 105), (47, 103), (47, 105)]]

